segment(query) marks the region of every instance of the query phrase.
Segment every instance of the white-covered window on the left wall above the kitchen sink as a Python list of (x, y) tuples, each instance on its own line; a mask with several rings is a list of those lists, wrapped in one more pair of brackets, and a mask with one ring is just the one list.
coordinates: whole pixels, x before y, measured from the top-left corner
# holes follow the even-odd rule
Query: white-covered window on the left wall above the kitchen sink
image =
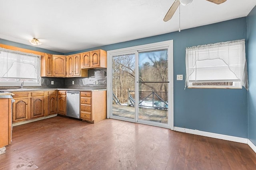
[(0, 86), (41, 86), (40, 56), (0, 48)]

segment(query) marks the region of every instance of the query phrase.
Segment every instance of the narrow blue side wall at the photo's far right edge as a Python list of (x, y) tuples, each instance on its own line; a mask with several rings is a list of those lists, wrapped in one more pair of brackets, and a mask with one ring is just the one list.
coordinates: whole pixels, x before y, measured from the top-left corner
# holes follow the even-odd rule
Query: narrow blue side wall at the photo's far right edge
[(256, 145), (256, 6), (247, 16), (248, 139)]

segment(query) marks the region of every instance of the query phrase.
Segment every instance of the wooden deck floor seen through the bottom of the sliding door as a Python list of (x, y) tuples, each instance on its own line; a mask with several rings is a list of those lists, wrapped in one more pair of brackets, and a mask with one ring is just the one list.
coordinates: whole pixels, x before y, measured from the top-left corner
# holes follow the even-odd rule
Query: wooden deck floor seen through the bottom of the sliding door
[[(132, 106), (122, 106), (122, 105), (112, 105), (112, 114), (118, 117), (124, 117), (129, 119), (134, 119), (134, 107)], [(160, 109), (148, 109), (139, 108), (139, 119), (145, 121), (152, 121), (157, 123), (168, 123), (168, 110)]]

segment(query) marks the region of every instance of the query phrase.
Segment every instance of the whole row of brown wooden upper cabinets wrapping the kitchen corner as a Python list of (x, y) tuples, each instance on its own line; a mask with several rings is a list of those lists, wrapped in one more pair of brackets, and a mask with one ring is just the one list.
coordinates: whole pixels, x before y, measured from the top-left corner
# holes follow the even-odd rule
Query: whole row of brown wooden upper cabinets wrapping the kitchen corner
[(41, 55), (41, 77), (87, 77), (90, 68), (107, 68), (107, 52), (99, 49), (68, 56)]

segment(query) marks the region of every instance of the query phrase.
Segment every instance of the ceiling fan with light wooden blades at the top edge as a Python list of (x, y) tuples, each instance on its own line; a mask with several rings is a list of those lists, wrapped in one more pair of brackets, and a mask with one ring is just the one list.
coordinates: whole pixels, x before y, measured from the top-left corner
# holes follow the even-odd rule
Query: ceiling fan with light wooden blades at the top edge
[[(193, 0), (175, 0), (172, 4), (171, 8), (168, 10), (167, 14), (164, 17), (164, 21), (169, 21), (172, 16), (174, 15), (177, 8), (182, 4), (183, 6), (188, 5)], [(226, 0), (207, 0), (209, 2), (213, 2), (214, 4), (222, 4), (223, 2), (226, 2)]]

